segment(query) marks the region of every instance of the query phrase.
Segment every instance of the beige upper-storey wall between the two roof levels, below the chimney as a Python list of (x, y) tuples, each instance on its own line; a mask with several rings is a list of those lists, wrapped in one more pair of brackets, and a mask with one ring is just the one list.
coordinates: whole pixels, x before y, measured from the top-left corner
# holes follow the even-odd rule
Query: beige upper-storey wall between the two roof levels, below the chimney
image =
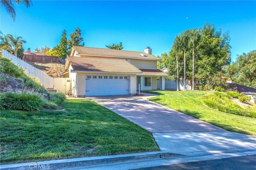
[(131, 64), (141, 69), (157, 69), (157, 61), (131, 59)]

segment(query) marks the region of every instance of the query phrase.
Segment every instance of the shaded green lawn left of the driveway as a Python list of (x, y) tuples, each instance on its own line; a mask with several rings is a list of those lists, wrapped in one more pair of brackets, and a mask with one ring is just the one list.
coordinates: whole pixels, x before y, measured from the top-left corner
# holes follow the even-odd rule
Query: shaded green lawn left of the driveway
[(0, 118), (1, 164), (159, 150), (148, 131), (88, 100)]

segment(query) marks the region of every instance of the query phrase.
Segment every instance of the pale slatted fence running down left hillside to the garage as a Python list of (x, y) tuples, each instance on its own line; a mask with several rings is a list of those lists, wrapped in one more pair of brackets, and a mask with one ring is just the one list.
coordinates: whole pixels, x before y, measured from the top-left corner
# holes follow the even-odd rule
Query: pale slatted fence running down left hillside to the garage
[(9, 59), (12, 63), (16, 64), (19, 67), (22, 67), (28, 74), (35, 76), (41, 82), (41, 84), (46, 89), (60, 90), (61, 92), (68, 94), (71, 90), (71, 79), (70, 78), (57, 78), (51, 77), (48, 74), (45, 74), (41, 70), (35, 68), (31, 64), (23, 61), (22, 59), (12, 55), (8, 51), (2, 49), (2, 57)]

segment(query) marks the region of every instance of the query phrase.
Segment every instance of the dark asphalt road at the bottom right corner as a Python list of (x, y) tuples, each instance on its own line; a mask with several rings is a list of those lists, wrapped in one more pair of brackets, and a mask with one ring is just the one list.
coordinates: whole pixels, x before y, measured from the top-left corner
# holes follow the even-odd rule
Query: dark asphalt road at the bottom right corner
[(184, 164), (138, 168), (136, 170), (256, 170), (256, 154), (250, 156), (188, 162)]

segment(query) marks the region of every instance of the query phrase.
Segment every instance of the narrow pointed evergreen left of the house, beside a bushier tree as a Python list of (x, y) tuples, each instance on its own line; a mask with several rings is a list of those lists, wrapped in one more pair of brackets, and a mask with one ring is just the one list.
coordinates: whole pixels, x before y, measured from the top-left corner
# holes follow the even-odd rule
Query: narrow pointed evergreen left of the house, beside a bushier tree
[(60, 39), (60, 44), (54, 47), (54, 50), (58, 52), (58, 56), (62, 59), (66, 59), (68, 55), (68, 41), (66, 30), (62, 32), (62, 37)]

